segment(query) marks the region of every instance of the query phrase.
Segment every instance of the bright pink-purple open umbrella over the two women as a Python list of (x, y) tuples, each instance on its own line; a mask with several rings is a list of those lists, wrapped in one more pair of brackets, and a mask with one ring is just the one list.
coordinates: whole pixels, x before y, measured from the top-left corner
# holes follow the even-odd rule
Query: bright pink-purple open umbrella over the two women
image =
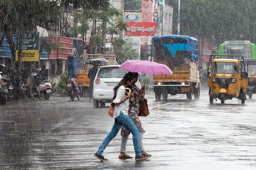
[(148, 74), (172, 74), (172, 70), (166, 65), (147, 60), (128, 60), (119, 69)]

